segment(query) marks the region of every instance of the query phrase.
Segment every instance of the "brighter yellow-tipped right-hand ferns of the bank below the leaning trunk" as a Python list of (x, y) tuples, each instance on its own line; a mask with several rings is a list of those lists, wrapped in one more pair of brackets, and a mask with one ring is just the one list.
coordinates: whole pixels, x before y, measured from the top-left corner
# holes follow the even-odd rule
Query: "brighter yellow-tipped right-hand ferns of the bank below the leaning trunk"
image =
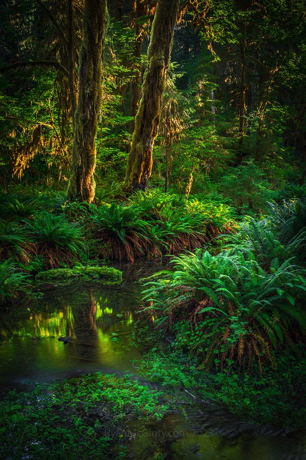
[(232, 226), (233, 209), (224, 202), (187, 199), (152, 190), (130, 198), (141, 219), (150, 225), (150, 241), (168, 248), (170, 254), (195, 249)]

